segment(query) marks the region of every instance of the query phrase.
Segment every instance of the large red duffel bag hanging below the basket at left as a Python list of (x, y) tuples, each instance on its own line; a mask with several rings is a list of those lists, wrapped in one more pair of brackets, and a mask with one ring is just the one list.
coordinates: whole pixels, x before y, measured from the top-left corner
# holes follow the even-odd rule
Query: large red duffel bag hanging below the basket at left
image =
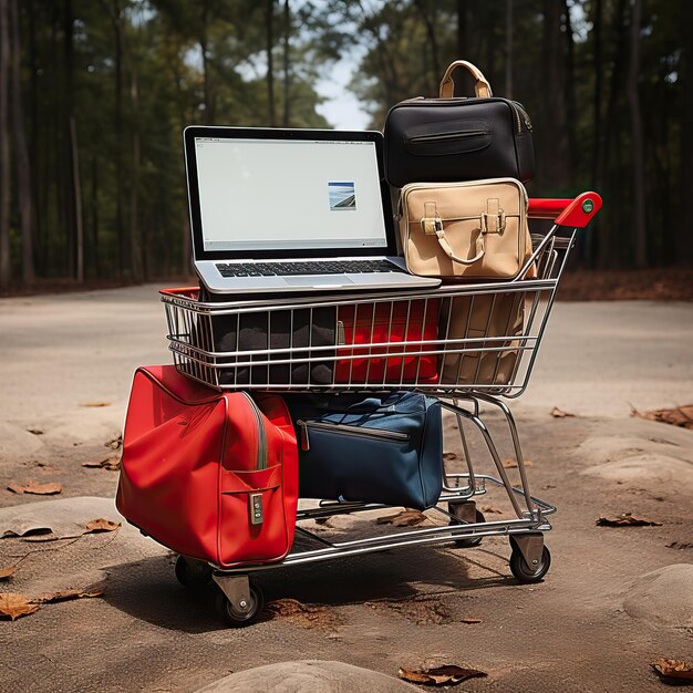
[(116, 495), (133, 525), (230, 568), (281, 560), (297, 503), (296, 434), (279, 395), (216, 392), (173, 365), (137, 369)]

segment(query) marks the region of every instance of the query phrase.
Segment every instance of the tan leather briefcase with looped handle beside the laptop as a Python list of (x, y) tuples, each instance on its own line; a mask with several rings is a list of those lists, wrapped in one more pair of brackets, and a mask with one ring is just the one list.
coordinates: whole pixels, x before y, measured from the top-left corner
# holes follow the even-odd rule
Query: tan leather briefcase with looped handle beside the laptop
[(527, 204), (514, 178), (405, 185), (399, 225), (408, 270), (466, 281), (517, 277), (531, 256)]

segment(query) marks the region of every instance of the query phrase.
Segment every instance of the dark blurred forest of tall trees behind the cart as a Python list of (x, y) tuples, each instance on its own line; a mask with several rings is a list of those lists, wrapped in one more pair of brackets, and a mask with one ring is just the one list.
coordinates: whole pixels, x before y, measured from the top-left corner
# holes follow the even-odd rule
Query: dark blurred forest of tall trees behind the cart
[(474, 62), (532, 118), (530, 195), (604, 198), (582, 267), (692, 267), (692, 28), (691, 0), (0, 0), (0, 288), (188, 273), (183, 128), (331, 127), (340, 60), (377, 130)]

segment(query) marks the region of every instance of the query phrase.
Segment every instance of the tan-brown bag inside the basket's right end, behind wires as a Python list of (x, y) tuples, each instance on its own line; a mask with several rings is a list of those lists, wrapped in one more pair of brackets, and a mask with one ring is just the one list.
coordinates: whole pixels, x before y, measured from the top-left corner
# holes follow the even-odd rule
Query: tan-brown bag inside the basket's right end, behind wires
[[(446, 343), (463, 339), (479, 341), (449, 343), (451, 349), (463, 349), (464, 353), (443, 356), (441, 384), (507, 385), (521, 355), (520, 342), (513, 338), (521, 337), (524, 322), (524, 291), (445, 299), (438, 334)], [(508, 339), (488, 339), (501, 337)]]

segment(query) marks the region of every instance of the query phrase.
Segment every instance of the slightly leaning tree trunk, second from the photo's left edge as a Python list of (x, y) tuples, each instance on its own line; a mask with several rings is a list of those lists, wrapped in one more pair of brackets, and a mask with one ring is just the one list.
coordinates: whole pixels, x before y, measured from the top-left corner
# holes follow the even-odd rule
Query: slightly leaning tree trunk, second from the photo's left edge
[(31, 192), (31, 167), (24, 134), (24, 118), (22, 117), (22, 85), (19, 74), (21, 45), (19, 42), (19, 7), (17, 0), (11, 0), (10, 12), (12, 25), (12, 131), (17, 157), (17, 196), (22, 228), (22, 281), (25, 285), (32, 285), (35, 281), (33, 267), (33, 219), (35, 211)]

